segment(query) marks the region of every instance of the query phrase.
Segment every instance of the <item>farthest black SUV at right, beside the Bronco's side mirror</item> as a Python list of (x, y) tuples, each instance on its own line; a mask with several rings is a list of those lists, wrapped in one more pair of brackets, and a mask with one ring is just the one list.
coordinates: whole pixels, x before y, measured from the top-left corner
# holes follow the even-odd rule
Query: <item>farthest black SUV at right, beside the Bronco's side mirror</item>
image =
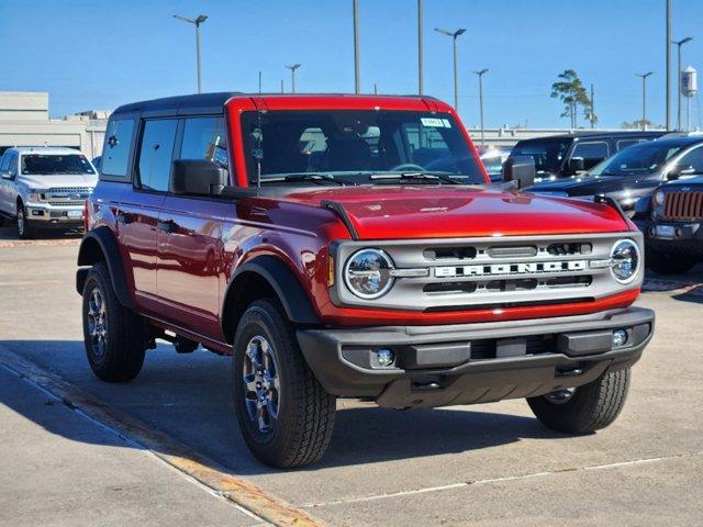
[(537, 178), (556, 179), (589, 170), (613, 154), (666, 132), (574, 132), (518, 142), (511, 156), (529, 156)]

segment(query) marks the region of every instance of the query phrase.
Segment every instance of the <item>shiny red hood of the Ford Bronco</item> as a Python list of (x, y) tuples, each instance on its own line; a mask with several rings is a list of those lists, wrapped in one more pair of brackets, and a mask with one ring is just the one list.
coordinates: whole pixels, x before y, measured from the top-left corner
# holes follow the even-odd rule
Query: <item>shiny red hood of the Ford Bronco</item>
[(520, 236), (628, 231), (599, 203), (467, 187), (346, 187), (289, 194), (311, 205), (339, 203), (361, 239)]

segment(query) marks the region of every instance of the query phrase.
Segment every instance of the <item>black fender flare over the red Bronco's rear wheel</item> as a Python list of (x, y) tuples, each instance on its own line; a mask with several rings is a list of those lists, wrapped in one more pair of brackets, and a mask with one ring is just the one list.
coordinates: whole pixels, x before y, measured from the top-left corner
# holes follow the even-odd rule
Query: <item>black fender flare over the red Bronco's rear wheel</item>
[(110, 271), (110, 279), (114, 294), (120, 303), (130, 310), (134, 309), (127, 288), (124, 266), (122, 264), (122, 255), (118, 240), (112, 231), (108, 227), (98, 227), (88, 231), (83, 235), (78, 249), (78, 267), (76, 271), (76, 290), (78, 294), (83, 293), (86, 278), (88, 278), (89, 267), (99, 261), (104, 261)]

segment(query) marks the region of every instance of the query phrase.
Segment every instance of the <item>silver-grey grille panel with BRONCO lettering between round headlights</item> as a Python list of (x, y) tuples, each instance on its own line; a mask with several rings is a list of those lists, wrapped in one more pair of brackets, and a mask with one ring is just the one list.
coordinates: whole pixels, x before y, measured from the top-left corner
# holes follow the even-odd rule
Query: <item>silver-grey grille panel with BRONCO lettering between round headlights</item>
[[(611, 251), (623, 238), (641, 248), (639, 232), (344, 242), (334, 255), (333, 301), (425, 313), (592, 302), (641, 281), (641, 270), (627, 287), (613, 278)], [(399, 271), (414, 271), (373, 300), (354, 295), (344, 280), (343, 262), (368, 247), (388, 254)]]

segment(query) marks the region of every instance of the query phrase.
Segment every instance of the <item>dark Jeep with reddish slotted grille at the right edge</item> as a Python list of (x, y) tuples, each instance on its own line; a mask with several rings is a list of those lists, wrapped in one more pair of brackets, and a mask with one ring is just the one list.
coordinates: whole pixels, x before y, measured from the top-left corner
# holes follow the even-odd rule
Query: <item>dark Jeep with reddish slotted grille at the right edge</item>
[(645, 233), (647, 267), (678, 274), (703, 261), (703, 177), (663, 183), (637, 209), (635, 223)]

